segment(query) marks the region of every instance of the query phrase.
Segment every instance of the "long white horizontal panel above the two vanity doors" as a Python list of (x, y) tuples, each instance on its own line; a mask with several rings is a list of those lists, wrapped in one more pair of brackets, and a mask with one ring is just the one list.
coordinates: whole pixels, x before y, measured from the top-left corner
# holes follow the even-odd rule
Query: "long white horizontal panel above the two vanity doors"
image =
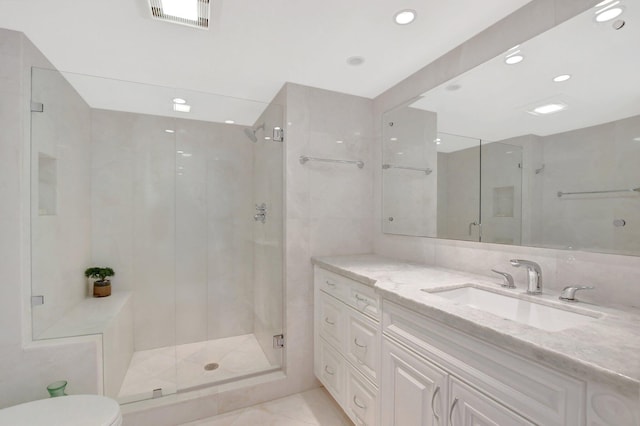
[(384, 302), (383, 334), (545, 426), (582, 425), (585, 383)]

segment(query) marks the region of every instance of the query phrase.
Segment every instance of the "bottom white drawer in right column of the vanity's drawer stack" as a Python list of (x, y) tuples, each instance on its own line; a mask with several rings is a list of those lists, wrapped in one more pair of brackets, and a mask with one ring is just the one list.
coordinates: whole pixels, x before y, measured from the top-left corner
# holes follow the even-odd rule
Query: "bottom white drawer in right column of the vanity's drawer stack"
[(378, 392), (368, 381), (353, 369), (347, 372), (347, 414), (358, 426), (378, 424)]

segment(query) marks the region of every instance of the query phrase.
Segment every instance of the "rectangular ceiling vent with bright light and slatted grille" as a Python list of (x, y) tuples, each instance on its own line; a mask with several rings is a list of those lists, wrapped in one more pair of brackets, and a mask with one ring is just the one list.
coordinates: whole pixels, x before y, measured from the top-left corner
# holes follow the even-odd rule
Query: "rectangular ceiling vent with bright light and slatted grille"
[(209, 28), (210, 0), (149, 0), (151, 15), (160, 21)]

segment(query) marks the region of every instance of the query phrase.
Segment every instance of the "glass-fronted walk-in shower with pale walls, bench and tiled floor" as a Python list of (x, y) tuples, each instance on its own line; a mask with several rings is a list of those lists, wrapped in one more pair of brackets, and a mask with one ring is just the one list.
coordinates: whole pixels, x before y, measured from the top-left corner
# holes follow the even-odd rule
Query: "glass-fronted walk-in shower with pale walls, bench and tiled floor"
[[(275, 102), (34, 68), (34, 340), (102, 334), (123, 403), (280, 369), (282, 121)], [(90, 266), (115, 270), (112, 296)]]

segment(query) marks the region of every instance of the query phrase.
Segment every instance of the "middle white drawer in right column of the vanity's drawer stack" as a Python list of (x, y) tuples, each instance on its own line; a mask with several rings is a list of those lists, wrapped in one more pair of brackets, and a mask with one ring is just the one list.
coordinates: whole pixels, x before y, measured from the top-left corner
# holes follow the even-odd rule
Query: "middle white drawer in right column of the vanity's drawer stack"
[(380, 332), (371, 318), (346, 308), (346, 357), (369, 380), (378, 383), (380, 371)]

